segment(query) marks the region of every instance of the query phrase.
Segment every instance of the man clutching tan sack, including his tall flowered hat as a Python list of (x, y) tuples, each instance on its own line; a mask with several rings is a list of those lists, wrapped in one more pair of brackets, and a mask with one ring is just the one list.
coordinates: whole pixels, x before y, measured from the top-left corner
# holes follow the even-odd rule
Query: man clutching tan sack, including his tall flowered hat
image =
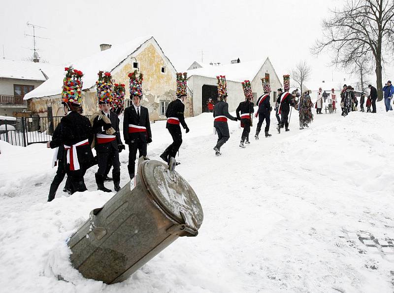
[(104, 186), (106, 169), (112, 163), (112, 178), (115, 191), (120, 190), (120, 162), (119, 152), (125, 149), (120, 138), (119, 118), (110, 111), (113, 98), (111, 73), (100, 71), (99, 79), (96, 81), (97, 97), (99, 99), (99, 112), (91, 117), (93, 132), (95, 133), (95, 149), (99, 161), (99, 169), (96, 175), (97, 190), (111, 192)]

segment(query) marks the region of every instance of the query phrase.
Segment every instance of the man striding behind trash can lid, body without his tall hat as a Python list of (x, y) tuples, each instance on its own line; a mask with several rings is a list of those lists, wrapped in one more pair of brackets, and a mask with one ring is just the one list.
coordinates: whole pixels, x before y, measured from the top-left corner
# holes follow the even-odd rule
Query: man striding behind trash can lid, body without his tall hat
[(165, 128), (168, 129), (173, 140), (172, 144), (169, 145), (160, 155), (160, 157), (167, 163), (169, 163), (171, 157), (175, 158), (179, 147), (182, 145), (182, 131), (179, 124), (182, 124), (182, 127), (186, 130), (186, 133), (189, 132), (189, 127), (185, 122), (184, 116), (185, 104), (183, 104), (183, 101), (185, 97), (186, 94), (179, 95), (175, 101), (172, 101), (168, 104), (167, 110), (165, 111), (165, 116), (167, 117), (167, 124)]

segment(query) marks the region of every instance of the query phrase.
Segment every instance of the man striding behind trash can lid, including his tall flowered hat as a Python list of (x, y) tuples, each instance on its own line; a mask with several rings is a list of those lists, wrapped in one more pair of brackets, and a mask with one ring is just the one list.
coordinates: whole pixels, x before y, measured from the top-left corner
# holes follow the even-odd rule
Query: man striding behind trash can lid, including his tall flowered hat
[[(182, 145), (182, 131), (180, 124), (186, 133), (188, 133), (189, 127), (185, 122), (185, 104), (184, 100), (187, 97), (187, 73), (176, 73), (176, 99), (168, 104), (167, 110), (165, 111), (165, 116), (167, 117), (167, 123), (165, 128), (168, 129), (172, 137), (172, 144), (169, 145), (160, 157), (170, 163), (170, 158), (175, 159), (175, 155)], [(176, 163), (177, 165), (179, 162)]]

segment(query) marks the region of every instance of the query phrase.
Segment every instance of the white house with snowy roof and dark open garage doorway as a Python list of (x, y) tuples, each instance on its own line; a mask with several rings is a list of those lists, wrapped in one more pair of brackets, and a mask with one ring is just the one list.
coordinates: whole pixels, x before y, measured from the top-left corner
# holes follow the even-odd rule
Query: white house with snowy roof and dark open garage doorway
[(212, 98), (214, 102), (218, 99), (217, 78), (218, 75), (226, 75), (229, 110), (233, 111), (245, 97), (241, 82), (250, 80), (254, 96), (254, 102), (263, 93), (261, 78), (267, 77), (271, 84), (271, 101), (276, 101), (277, 89), (282, 87), (282, 81), (278, 77), (269, 58), (265, 60), (240, 62), (226, 65), (203, 65), (194, 62), (188, 73), (188, 86), (193, 92), (193, 114), (198, 115), (207, 111), (207, 101)]

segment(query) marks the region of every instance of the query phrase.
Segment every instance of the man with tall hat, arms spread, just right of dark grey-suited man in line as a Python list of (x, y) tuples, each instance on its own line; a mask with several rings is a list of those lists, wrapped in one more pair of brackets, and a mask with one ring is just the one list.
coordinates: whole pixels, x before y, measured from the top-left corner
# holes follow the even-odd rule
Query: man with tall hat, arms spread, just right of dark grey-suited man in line
[[(239, 103), (238, 108), (235, 111), (237, 113), (237, 119), (241, 120), (241, 127), (243, 127), (239, 147), (245, 148), (245, 144), (250, 144), (249, 133), (250, 127), (252, 126), (252, 114), (255, 109), (253, 108), (253, 93), (249, 80), (242, 82), (242, 89), (245, 95), (245, 101)], [(241, 112), (241, 114), (239, 114), (239, 112)]]

